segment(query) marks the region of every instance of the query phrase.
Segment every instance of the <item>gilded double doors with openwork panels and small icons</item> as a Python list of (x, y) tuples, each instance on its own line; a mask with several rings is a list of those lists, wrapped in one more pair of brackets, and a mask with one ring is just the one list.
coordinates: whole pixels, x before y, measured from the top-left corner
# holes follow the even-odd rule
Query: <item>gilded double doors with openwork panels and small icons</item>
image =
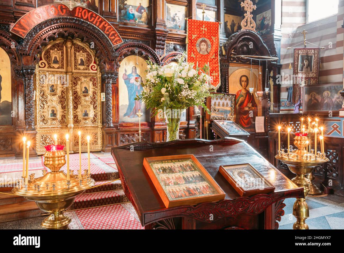
[(71, 136), (70, 150), (101, 150), (100, 73), (92, 51), (76, 40), (56, 40), (43, 50), (37, 64), (35, 86), (36, 151), (43, 154), (45, 145), (65, 145)]

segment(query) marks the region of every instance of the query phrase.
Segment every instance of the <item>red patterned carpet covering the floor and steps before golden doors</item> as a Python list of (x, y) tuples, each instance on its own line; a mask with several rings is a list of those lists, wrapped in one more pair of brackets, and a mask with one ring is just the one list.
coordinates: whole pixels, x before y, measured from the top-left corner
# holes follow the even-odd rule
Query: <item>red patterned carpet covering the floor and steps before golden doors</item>
[[(86, 153), (82, 154), (81, 163), (82, 168), (87, 169)], [(79, 154), (71, 154), (69, 164), (74, 174), (77, 174)], [(31, 170), (44, 169), (39, 158), (30, 159), (29, 166)], [(0, 164), (0, 173), (12, 173), (21, 169), (21, 160), (9, 160)], [(63, 166), (61, 170), (66, 172), (66, 166)], [(109, 154), (91, 153), (90, 170), (96, 185), (119, 178), (115, 161)], [(135, 209), (123, 192), (120, 180), (86, 190), (84, 194), (76, 197), (66, 213), (72, 218), (69, 225), (71, 229), (143, 229)], [(15, 229), (18, 224), (23, 229), (40, 229), (39, 224), (42, 219), (44, 217), (39, 216), (2, 222), (0, 229)]]

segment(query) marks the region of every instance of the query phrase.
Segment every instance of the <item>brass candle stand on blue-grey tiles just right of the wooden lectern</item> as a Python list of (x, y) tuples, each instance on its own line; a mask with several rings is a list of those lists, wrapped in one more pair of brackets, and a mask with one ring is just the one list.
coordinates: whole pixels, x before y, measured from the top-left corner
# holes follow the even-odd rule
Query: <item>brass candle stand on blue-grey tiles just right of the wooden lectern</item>
[(309, 208), (305, 198), (309, 193), (311, 181), (306, 175), (310, 174), (316, 166), (329, 161), (325, 153), (317, 152), (313, 154), (305, 149), (306, 142), (309, 141), (307, 135), (308, 133), (295, 133), (294, 145), (298, 149), (290, 153), (284, 153), (284, 150), (281, 149), (275, 156), (275, 158), (286, 164), (291, 172), (296, 174), (296, 177), (291, 181), (304, 189), (304, 198), (297, 198), (293, 205), (293, 215), (296, 218), (293, 229), (308, 229), (305, 220), (309, 217)]

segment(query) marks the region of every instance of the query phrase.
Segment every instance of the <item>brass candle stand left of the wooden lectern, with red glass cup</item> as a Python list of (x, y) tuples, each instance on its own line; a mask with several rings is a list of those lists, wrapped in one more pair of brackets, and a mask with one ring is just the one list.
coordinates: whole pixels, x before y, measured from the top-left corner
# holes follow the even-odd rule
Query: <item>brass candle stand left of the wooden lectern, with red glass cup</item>
[(43, 176), (39, 178), (34, 178), (34, 174), (31, 174), (28, 185), (18, 181), (12, 189), (14, 194), (35, 201), (42, 211), (50, 213), (41, 223), (46, 229), (68, 229), (72, 220), (63, 211), (73, 204), (77, 195), (95, 184), (88, 173), (79, 178), (71, 171), (67, 180), (66, 173), (60, 171), (66, 164), (63, 147), (64, 145), (45, 146), (47, 151), (44, 154), (44, 166), (51, 172), (43, 170)]

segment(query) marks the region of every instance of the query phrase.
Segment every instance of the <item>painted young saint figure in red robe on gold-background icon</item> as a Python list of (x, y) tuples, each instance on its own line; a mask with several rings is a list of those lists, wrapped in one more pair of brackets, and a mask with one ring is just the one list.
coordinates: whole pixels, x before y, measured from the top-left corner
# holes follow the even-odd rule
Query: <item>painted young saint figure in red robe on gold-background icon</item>
[[(243, 127), (250, 127), (252, 124), (251, 117), (257, 116), (258, 106), (256, 104), (255, 98), (248, 91), (247, 86), (249, 85), (249, 80), (247, 75), (240, 76), (239, 79), (240, 86), (242, 87), (235, 94), (235, 105), (236, 105), (236, 122)], [(252, 114), (250, 115), (250, 112)]]

